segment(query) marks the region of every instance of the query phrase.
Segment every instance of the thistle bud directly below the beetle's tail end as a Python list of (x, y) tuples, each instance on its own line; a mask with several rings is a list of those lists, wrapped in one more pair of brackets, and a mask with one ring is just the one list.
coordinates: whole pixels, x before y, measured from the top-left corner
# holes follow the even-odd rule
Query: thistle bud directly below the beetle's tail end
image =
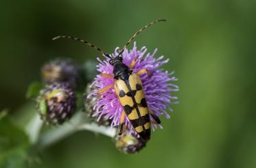
[(134, 154), (146, 146), (146, 142), (128, 131), (115, 137), (115, 146), (125, 154)]

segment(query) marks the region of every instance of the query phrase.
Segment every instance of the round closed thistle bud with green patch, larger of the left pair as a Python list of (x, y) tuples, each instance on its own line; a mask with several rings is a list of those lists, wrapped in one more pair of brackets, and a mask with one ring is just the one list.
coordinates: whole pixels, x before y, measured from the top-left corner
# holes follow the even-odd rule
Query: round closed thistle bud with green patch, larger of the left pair
[(37, 103), (41, 118), (55, 125), (71, 118), (76, 108), (76, 97), (69, 84), (55, 83), (41, 91)]

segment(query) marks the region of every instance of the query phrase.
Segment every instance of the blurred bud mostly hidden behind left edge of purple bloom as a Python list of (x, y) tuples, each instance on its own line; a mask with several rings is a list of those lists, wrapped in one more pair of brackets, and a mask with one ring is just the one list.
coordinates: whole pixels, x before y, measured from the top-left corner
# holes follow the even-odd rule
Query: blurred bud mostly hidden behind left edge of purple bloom
[(95, 87), (90, 87), (88, 84), (86, 86), (86, 90), (84, 92), (84, 110), (90, 119), (90, 121), (95, 121), (98, 125), (106, 125), (109, 126), (111, 123), (110, 119), (105, 119), (104, 117), (101, 117), (100, 120), (98, 119), (98, 115), (95, 115), (95, 109), (94, 106), (97, 103), (97, 101), (100, 99), (99, 97), (90, 95), (95, 91)]

